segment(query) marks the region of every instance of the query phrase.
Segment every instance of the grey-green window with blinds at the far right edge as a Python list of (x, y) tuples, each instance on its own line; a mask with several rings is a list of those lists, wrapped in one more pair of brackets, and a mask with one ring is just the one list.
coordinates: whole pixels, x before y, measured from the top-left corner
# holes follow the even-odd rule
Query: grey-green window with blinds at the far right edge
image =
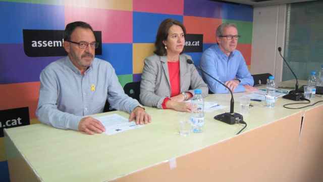
[[(290, 10), (290, 14), (289, 14)], [(284, 56), (298, 79), (306, 80), (323, 64), (323, 2), (294, 3), (287, 7)], [(288, 29), (289, 28), (289, 29)], [(286, 64), (283, 81), (294, 79)]]

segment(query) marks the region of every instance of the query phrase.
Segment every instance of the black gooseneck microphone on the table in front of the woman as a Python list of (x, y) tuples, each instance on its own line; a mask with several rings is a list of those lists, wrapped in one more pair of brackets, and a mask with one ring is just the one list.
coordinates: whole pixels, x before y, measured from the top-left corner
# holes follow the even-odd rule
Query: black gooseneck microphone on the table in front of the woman
[[(193, 64), (193, 61), (188, 59), (186, 60), (186, 62), (188, 64)], [(214, 119), (228, 123), (228, 124), (235, 124), (235, 123), (245, 123), (243, 121), (243, 116), (239, 113), (235, 113), (233, 111), (234, 108), (234, 99), (233, 99), (233, 93), (231, 91), (231, 89), (225, 85), (224, 83), (222, 83), (221, 81), (219, 81), (218, 79), (214, 78), (213, 76), (211, 76), (210, 74), (208, 74), (207, 72), (205, 72), (202, 68), (200, 67), (196, 67), (198, 70), (202, 71), (203, 73), (205, 73), (206, 75), (208, 75), (209, 77), (213, 78), (214, 80), (218, 81), (219, 83), (221, 83), (223, 86), (225, 86), (226, 88), (229, 89), (230, 93), (231, 93), (231, 101), (230, 101), (230, 113), (223, 113), (223, 114), (219, 114), (217, 116), (214, 116)]]

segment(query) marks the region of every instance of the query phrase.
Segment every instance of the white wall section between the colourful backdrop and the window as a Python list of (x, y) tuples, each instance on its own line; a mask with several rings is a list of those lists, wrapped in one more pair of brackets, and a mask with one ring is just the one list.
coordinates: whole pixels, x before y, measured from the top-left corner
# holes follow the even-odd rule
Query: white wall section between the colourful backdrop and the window
[(271, 73), (276, 81), (282, 80), (286, 29), (286, 5), (256, 7), (253, 9), (251, 74)]

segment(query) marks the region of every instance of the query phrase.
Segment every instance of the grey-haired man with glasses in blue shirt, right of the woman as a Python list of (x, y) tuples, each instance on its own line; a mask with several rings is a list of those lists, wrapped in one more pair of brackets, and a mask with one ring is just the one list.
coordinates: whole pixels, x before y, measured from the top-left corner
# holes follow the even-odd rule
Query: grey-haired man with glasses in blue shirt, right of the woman
[[(216, 32), (217, 44), (202, 54), (200, 66), (214, 78), (225, 83), (232, 92), (256, 90), (242, 54), (236, 50), (238, 30), (235, 24), (223, 23)], [(202, 73), (212, 93), (228, 93), (229, 90), (210, 76)]]

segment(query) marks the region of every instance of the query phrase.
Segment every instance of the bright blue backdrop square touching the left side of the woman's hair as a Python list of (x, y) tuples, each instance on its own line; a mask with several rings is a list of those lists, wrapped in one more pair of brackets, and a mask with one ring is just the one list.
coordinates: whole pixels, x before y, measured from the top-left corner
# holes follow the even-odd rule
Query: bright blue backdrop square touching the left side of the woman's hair
[(154, 42), (159, 24), (167, 18), (183, 22), (183, 16), (179, 15), (133, 12), (133, 42)]

